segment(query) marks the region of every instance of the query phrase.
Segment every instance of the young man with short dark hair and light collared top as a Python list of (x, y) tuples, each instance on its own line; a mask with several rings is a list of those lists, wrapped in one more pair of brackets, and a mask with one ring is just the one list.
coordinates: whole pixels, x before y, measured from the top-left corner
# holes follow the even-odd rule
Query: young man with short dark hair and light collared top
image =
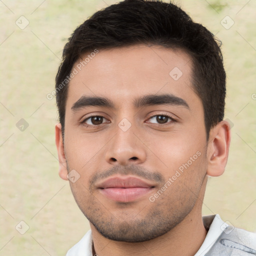
[(251, 255), (255, 234), (201, 217), (223, 173), (219, 43), (172, 3), (124, 0), (77, 27), (56, 75), (59, 175), (91, 230), (67, 255)]

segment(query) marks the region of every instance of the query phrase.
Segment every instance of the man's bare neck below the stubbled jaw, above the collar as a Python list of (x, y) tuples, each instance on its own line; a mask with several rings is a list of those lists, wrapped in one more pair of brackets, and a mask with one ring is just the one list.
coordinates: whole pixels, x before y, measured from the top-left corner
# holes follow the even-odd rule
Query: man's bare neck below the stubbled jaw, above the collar
[(207, 233), (203, 226), (201, 210), (198, 212), (197, 209), (201, 203), (196, 204), (191, 212), (170, 231), (144, 242), (109, 240), (98, 233), (95, 227), (90, 224), (94, 245), (93, 255), (192, 256), (200, 248)]

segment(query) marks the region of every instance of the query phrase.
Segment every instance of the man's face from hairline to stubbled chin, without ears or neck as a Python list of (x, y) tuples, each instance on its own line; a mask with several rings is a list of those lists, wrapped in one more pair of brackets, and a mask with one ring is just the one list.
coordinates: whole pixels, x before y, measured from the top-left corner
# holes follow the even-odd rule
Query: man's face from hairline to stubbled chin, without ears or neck
[(206, 134), (202, 103), (192, 90), (192, 62), (182, 50), (141, 44), (99, 50), (79, 70), (86, 55), (73, 66), (78, 73), (66, 101), (64, 152), (72, 193), (105, 237), (152, 239), (194, 205), (200, 211)]

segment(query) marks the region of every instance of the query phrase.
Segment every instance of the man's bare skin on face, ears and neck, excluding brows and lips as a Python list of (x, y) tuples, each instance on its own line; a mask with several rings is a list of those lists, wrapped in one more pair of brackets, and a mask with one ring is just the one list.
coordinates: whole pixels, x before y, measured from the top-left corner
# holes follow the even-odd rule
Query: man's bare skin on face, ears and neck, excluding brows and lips
[[(174, 67), (182, 71), (177, 80), (169, 75)], [(203, 107), (192, 89), (191, 68), (190, 57), (180, 49), (139, 44), (99, 50), (69, 83), (64, 144), (61, 125), (55, 127), (59, 175), (67, 179), (73, 169), (80, 175), (69, 183), (90, 221), (99, 256), (193, 255), (205, 238), (201, 205), (207, 175), (223, 173), (230, 131), (228, 123), (221, 121), (206, 141)], [(165, 93), (183, 99), (188, 107), (133, 105), (137, 97)], [(107, 97), (115, 108), (72, 110), (82, 95)], [(104, 118), (81, 123), (91, 115)], [(164, 115), (174, 120), (159, 122)], [(131, 125), (126, 131), (118, 126), (123, 118)], [(198, 157), (173, 180), (196, 152)], [(139, 177), (154, 187), (134, 201), (114, 201), (97, 187), (113, 175)], [(172, 182), (167, 185), (169, 178)], [(167, 188), (154, 196), (164, 184)], [(155, 199), (150, 201), (152, 196)]]

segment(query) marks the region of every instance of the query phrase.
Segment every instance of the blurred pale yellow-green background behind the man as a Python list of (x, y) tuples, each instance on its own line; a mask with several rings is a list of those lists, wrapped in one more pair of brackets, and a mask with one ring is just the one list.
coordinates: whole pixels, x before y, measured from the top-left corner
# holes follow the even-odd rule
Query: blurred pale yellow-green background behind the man
[[(89, 228), (58, 176), (57, 111), (46, 94), (70, 33), (115, 2), (0, 0), (0, 255), (65, 255)], [(176, 3), (222, 41), (227, 73), (229, 160), (222, 176), (208, 180), (203, 214), (256, 231), (256, 1)]]

